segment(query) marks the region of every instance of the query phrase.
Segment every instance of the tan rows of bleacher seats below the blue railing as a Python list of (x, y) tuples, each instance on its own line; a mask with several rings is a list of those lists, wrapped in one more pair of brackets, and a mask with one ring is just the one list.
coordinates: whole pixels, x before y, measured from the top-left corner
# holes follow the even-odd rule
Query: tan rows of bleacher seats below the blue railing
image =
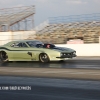
[(82, 37), (84, 43), (99, 43), (100, 22), (50, 24), (37, 31), (35, 39), (55, 44), (66, 43), (68, 38)]

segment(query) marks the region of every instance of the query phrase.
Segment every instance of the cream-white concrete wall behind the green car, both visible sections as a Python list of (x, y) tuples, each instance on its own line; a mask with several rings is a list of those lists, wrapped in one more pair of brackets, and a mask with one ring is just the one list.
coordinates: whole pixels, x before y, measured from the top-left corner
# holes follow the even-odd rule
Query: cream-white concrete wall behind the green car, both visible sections
[[(0, 32), (0, 45), (35, 36), (35, 31)], [(100, 56), (100, 44), (56, 44), (76, 50), (77, 56)]]

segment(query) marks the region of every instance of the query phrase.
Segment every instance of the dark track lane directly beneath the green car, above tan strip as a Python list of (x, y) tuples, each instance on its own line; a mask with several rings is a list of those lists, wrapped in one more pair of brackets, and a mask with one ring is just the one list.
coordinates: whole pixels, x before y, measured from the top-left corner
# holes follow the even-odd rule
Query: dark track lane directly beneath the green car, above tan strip
[(0, 64), (0, 67), (20, 67), (20, 68), (85, 68), (100, 69), (100, 57), (77, 57), (66, 61), (56, 61), (50, 63), (40, 62), (8, 62)]

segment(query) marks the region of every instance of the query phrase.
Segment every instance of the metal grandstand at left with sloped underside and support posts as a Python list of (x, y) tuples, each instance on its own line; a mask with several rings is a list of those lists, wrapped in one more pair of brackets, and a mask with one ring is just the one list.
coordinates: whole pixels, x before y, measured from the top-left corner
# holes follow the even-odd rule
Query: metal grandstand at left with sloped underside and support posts
[(0, 32), (32, 29), (34, 14), (34, 6), (0, 9)]

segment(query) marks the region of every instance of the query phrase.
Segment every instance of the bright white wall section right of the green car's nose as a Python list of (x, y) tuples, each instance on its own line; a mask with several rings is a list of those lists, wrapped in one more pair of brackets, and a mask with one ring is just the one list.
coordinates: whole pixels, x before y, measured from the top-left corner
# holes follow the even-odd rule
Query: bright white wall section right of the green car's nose
[(100, 44), (57, 44), (76, 50), (77, 56), (100, 56)]

